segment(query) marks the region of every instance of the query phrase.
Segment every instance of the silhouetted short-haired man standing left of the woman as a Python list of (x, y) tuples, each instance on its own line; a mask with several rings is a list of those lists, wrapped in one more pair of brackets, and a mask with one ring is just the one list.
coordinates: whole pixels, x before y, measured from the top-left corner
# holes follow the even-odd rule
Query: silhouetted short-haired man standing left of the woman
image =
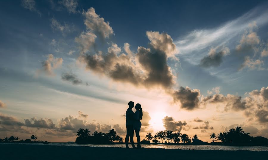
[(134, 112), (132, 111), (133, 107), (134, 107), (134, 102), (132, 101), (128, 102), (128, 109), (126, 112), (126, 127), (127, 127), (127, 136), (125, 138), (126, 148), (129, 148), (128, 147), (129, 137), (130, 137), (130, 143), (132, 145), (132, 148), (136, 148), (134, 145), (134, 141), (133, 141), (133, 137), (134, 137), (134, 129), (133, 129)]

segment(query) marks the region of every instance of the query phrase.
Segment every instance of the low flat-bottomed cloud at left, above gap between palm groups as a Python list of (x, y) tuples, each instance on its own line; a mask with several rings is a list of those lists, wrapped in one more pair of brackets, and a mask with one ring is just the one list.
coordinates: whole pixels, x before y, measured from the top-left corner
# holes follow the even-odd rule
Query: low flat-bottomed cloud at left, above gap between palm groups
[(39, 119), (37, 120), (35, 117), (29, 119), (24, 119), (25, 126), (27, 127), (36, 127), (36, 128), (56, 128), (55, 124), (51, 119)]

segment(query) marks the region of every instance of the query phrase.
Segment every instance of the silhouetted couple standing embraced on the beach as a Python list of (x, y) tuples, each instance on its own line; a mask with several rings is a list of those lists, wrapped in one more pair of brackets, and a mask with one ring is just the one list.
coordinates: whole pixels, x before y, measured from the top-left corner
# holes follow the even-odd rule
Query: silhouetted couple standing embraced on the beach
[[(141, 120), (142, 120), (142, 108), (141, 104), (137, 103), (135, 105), (136, 112), (134, 113), (132, 111), (132, 108), (134, 107), (134, 102), (130, 101), (128, 102), (128, 109), (126, 112), (126, 127), (127, 127), (127, 136), (126, 136), (126, 148), (128, 147), (128, 139), (130, 138), (130, 143), (132, 145), (133, 149), (141, 148), (141, 137), (140, 137), (140, 131), (141, 131)], [(134, 137), (134, 130), (137, 137), (138, 145), (135, 147), (133, 137)]]

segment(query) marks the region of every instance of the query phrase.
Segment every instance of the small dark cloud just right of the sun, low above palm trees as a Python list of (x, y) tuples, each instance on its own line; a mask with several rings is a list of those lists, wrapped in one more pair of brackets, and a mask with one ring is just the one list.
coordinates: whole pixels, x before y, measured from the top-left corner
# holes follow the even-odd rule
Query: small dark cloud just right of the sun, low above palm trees
[(186, 126), (186, 122), (185, 121), (174, 121), (174, 119), (172, 117), (164, 117), (163, 119), (163, 124), (164, 127), (166, 128), (166, 130), (171, 130), (171, 131), (180, 131), (183, 126)]

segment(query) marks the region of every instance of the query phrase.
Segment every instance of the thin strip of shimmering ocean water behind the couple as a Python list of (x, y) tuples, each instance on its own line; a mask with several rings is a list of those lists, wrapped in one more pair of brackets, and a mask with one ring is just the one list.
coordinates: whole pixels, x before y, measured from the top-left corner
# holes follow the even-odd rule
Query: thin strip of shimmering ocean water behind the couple
[[(4, 144), (4, 143), (0, 143)], [(14, 143), (13, 143), (14, 144)], [(75, 143), (49, 143), (49, 144), (31, 144), (31, 143), (17, 143), (17, 145), (64, 145), (64, 146), (86, 146), (86, 147), (120, 147), (125, 145), (78, 145)], [(131, 145), (129, 145), (131, 147)], [(163, 149), (181, 149), (181, 150), (250, 150), (250, 151), (268, 151), (268, 146), (224, 146), (224, 145), (141, 145), (143, 148), (163, 148)]]

